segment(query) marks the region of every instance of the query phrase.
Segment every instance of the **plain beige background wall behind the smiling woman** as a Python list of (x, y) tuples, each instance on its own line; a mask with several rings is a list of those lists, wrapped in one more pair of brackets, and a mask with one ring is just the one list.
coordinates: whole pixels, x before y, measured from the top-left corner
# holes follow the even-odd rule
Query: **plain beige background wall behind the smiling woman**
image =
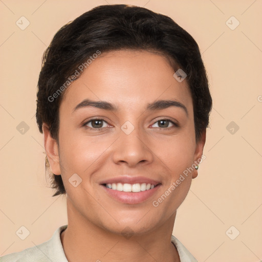
[[(45, 177), (34, 116), (36, 84), (42, 53), (56, 31), (106, 3), (172, 17), (199, 43), (208, 71), (213, 110), (206, 160), (179, 208), (173, 234), (200, 262), (262, 260), (261, 0), (1, 0), (0, 255), (47, 241), (67, 224), (65, 197), (52, 198)], [(21, 16), (30, 21), (25, 30), (16, 25)], [(234, 30), (228, 27), (236, 25), (234, 18), (226, 23), (231, 16), (240, 23)], [(24, 134), (16, 129), (22, 121), (29, 126)], [(233, 134), (227, 130), (231, 121), (239, 126)], [(16, 235), (21, 226), (30, 231), (25, 240)], [(231, 240), (236, 230), (240, 234)]]

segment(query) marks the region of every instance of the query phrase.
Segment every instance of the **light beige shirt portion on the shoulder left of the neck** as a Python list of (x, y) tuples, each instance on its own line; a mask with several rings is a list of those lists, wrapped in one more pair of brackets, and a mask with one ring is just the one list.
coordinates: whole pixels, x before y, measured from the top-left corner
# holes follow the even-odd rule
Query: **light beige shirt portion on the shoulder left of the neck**
[(42, 244), (0, 257), (0, 262), (50, 262), (56, 259), (67, 262), (60, 239), (60, 233), (65, 228), (67, 225), (59, 227), (53, 236)]

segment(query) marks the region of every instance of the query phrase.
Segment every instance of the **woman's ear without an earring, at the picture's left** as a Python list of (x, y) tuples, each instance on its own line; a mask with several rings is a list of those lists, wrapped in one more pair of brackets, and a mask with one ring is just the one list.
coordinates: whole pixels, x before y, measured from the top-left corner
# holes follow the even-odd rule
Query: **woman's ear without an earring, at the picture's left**
[(58, 144), (56, 140), (51, 137), (50, 129), (47, 126), (47, 124), (43, 123), (42, 129), (43, 129), (43, 141), (45, 144), (45, 149), (46, 149), (46, 154), (50, 165), (50, 169), (53, 174), (61, 174)]

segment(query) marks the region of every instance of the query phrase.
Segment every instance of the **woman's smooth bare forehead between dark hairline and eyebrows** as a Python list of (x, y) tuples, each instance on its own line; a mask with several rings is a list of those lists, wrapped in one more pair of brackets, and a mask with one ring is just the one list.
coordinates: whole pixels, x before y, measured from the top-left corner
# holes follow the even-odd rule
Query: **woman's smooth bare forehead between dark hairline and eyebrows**
[(178, 82), (168, 59), (148, 51), (102, 53), (65, 90), (61, 107), (73, 108), (83, 99), (111, 101), (134, 110), (143, 102), (176, 99), (192, 106), (188, 84)]

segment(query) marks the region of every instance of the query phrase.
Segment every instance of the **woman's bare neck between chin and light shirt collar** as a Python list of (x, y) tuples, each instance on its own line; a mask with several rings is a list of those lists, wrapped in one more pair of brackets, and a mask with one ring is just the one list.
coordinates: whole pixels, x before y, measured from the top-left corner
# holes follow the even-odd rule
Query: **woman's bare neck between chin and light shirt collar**
[(116, 234), (98, 227), (68, 205), (68, 227), (61, 242), (69, 262), (180, 262), (171, 234), (176, 212), (163, 225), (143, 234)]

